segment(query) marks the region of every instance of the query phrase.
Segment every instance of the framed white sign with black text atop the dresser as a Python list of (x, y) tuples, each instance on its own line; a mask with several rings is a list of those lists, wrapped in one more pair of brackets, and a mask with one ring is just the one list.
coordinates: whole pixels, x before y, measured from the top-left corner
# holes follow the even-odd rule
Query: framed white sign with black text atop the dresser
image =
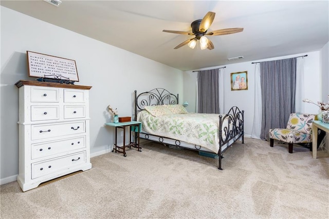
[(29, 77), (79, 81), (75, 60), (26, 51)]

